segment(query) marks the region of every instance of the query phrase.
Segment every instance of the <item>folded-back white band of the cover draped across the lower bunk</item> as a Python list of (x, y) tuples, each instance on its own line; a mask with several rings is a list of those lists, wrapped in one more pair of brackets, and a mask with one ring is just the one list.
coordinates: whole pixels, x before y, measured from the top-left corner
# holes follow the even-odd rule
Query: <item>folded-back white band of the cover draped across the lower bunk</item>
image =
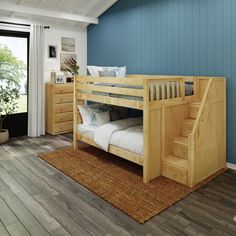
[(94, 142), (103, 150), (108, 151), (111, 137), (115, 132), (141, 125), (142, 122), (142, 118), (128, 118), (101, 125), (94, 132)]

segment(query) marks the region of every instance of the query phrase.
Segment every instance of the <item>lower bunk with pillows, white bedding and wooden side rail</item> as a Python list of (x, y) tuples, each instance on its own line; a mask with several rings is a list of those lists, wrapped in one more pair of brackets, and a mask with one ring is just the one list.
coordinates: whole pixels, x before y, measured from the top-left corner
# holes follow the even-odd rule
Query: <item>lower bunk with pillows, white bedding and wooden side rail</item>
[[(91, 107), (79, 106), (82, 122), (77, 125), (77, 140), (143, 165), (143, 117), (120, 119), (116, 110), (116, 119), (112, 120), (113, 111), (98, 112), (96, 108), (95, 112)], [(87, 122), (86, 112), (94, 116)]]

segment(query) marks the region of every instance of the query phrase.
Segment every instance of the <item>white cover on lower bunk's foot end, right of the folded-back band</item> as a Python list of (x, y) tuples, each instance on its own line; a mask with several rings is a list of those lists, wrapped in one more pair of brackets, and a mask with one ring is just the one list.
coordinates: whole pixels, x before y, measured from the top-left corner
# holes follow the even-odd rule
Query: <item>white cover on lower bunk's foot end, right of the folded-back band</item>
[(143, 126), (134, 126), (112, 134), (110, 144), (143, 155)]

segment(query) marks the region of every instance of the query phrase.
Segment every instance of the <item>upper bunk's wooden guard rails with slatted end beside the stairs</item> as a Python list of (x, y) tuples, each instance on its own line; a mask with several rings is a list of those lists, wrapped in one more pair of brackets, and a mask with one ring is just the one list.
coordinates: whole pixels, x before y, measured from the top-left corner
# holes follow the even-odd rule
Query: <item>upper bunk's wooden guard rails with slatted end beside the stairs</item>
[(156, 109), (166, 102), (194, 100), (196, 85), (197, 77), (194, 76), (76, 76), (75, 96), (77, 100), (138, 110)]

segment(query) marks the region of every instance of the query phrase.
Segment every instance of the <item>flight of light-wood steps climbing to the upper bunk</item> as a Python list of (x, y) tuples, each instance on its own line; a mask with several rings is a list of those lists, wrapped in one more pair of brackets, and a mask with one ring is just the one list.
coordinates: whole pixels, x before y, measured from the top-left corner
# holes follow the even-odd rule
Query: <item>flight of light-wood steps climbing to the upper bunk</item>
[(188, 119), (183, 120), (182, 136), (173, 140), (172, 155), (162, 162), (162, 175), (179, 183), (188, 184), (188, 135), (192, 132), (200, 103), (192, 103)]

